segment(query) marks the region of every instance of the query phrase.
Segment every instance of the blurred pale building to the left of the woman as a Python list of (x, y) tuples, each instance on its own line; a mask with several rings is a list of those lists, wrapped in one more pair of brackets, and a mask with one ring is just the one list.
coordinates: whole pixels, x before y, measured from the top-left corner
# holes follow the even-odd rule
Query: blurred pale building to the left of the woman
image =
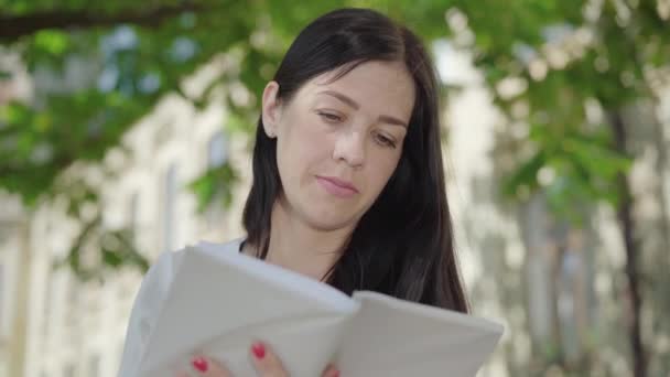
[[(213, 67), (188, 79), (192, 89), (203, 85), (207, 69)], [(213, 103), (196, 110), (179, 96), (163, 98), (125, 136), (127, 152), (109, 153), (105, 165), (122, 172), (114, 180), (104, 180), (99, 169), (73, 168), (88, 182), (104, 180), (104, 223), (131, 226), (150, 260), (202, 239), (241, 235), (247, 141), (224, 131), (223, 100)], [(241, 175), (236, 201), (227, 211), (198, 215), (187, 184), (228, 159)], [(65, 208), (54, 204), (23, 214), (18, 203), (1, 201), (0, 376), (116, 376), (141, 274), (122, 269), (102, 281), (77, 280), (67, 267), (54, 267), (77, 230)]]

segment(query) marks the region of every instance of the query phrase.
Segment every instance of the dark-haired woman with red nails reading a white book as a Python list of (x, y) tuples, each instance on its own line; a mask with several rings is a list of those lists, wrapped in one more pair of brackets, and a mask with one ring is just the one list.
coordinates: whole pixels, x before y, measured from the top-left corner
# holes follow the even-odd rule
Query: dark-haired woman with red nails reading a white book
[[(421, 41), (371, 10), (329, 12), (293, 42), (264, 88), (245, 241), (227, 248), (327, 282), (467, 311), (444, 187), (437, 86)], [(181, 255), (151, 268), (120, 375), (139, 355)], [(285, 376), (259, 342), (259, 376)], [(198, 355), (190, 376), (229, 376)], [(337, 376), (329, 366), (323, 376)]]

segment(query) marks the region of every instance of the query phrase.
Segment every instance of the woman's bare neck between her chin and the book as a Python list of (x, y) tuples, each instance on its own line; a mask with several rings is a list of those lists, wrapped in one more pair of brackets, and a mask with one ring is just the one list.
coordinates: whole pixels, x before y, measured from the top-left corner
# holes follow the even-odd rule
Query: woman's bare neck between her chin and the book
[(352, 233), (350, 228), (324, 230), (310, 226), (290, 213), (282, 200), (272, 208), (271, 223), (266, 260), (316, 280), (327, 278), (326, 273), (339, 258)]

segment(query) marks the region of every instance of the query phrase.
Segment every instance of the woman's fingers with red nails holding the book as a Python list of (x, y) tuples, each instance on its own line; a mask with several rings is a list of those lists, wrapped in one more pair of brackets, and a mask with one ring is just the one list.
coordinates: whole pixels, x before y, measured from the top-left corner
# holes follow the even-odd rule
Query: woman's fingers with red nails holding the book
[[(281, 360), (267, 344), (257, 342), (249, 349), (249, 356), (259, 377), (289, 377)], [(233, 377), (233, 374), (221, 364), (205, 356), (195, 356), (191, 360), (191, 370), (182, 371), (177, 377)], [(339, 370), (329, 365), (322, 377), (339, 377)]]

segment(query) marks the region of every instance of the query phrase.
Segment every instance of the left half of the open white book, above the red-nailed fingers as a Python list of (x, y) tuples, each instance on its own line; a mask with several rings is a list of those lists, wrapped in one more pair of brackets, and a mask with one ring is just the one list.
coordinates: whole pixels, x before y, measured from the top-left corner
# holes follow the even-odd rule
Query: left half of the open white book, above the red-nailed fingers
[(334, 288), (212, 245), (185, 251), (142, 358), (142, 376), (172, 376), (194, 352), (234, 376), (256, 376), (249, 348), (267, 342), (293, 377), (321, 376), (358, 303)]

